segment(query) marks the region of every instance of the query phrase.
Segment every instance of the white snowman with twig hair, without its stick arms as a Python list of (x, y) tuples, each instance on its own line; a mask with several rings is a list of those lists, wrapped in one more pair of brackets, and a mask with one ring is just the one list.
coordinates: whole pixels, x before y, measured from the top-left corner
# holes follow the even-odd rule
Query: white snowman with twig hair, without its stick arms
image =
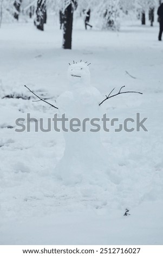
[[(61, 114), (66, 118), (83, 119), (101, 118), (99, 102), (101, 94), (95, 87), (90, 86), (90, 72), (86, 63), (70, 65), (68, 69), (69, 90), (57, 99)], [(79, 182), (87, 179), (94, 172), (104, 172), (108, 166), (107, 153), (101, 143), (100, 132), (86, 121), (86, 132), (64, 132), (66, 148), (61, 161), (57, 164), (57, 174), (66, 182)]]

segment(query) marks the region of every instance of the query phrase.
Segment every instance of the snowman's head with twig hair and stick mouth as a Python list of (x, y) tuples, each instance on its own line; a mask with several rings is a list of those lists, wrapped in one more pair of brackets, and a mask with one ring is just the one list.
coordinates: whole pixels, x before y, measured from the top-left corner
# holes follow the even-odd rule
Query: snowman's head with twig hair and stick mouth
[(85, 62), (77, 62), (69, 64), (68, 80), (70, 84), (82, 84), (88, 86), (90, 84), (89, 64)]

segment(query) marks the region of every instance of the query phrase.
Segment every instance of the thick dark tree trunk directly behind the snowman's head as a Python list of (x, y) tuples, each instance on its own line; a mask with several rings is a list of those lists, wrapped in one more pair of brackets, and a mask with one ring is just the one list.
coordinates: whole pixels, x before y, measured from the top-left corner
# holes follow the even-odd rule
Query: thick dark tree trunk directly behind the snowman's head
[(73, 8), (69, 4), (64, 11), (63, 17), (63, 45), (64, 49), (71, 49), (72, 42), (72, 32), (73, 32)]

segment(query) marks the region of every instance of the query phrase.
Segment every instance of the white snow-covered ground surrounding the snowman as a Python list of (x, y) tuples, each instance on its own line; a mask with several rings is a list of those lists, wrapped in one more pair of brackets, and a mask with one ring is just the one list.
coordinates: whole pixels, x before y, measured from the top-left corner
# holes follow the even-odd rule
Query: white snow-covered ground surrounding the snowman
[[(63, 50), (62, 31), (31, 23), (0, 29), (0, 244), (163, 244), (163, 44), (158, 25), (84, 31), (74, 23), (73, 50)], [(147, 117), (148, 132), (102, 132), (108, 176), (65, 185), (55, 176), (64, 151), (62, 133), (15, 132), (15, 120), (53, 117), (24, 84), (55, 105), (67, 88), (68, 63), (92, 63), (92, 84), (103, 100), (114, 87), (137, 90), (106, 101), (110, 118)], [(132, 78), (127, 72), (135, 78)], [(4, 97), (4, 99), (3, 99)], [(46, 121), (45, 121), (46, 125)], [(123, 216), (125, 209), (130, 216)]]

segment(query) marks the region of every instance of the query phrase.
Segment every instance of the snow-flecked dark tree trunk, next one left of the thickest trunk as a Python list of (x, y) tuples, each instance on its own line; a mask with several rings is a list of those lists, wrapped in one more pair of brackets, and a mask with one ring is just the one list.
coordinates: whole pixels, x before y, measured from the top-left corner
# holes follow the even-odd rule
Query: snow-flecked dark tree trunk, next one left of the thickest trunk
[(36, 21), (34, 22), (37, 29), (43, 31), (44, 23), (47, 22), (47, 6), (46, 0), (38, 0), (37, 1), (37, 9), (36, 9)]

